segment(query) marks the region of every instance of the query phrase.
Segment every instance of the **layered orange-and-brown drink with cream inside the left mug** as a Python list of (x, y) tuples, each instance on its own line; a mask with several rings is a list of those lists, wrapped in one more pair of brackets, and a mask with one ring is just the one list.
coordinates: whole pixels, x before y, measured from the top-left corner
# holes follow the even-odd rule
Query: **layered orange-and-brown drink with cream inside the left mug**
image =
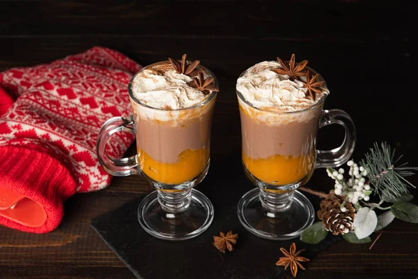
[[(211, 77), (203, 67), (197, 72)], [(153, 181), (176, 185), (207, 171), (216, 93), (196, 88), (193, 78), (169, 61), (141, 70), (130, 85), (137, 100), (132, 107), (141, 171)]]

